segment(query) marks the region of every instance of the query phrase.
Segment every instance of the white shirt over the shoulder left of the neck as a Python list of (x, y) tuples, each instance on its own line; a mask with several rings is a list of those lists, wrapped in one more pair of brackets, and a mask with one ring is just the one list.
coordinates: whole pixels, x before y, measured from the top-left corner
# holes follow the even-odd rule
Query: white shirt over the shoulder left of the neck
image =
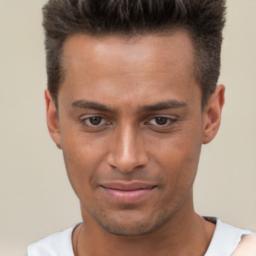
[(73, 256), (72, 232), (80, 223), (28, 245), (27, 256)]

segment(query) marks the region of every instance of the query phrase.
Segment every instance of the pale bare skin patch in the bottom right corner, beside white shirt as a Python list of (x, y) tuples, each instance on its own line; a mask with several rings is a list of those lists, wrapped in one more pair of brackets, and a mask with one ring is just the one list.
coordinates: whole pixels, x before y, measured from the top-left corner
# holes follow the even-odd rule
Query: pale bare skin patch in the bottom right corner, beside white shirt
[(256, 233), (243, 235), (232, 256), (255, 256)]

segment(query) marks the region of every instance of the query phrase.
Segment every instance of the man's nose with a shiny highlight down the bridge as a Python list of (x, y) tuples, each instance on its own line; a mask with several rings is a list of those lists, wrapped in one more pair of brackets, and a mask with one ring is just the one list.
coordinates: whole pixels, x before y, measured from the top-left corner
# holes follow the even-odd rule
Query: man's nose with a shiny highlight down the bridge
[(145, 166), (148, 158), (143, 144), (143, 139), (135, 127), (126, 125), (118, 128), (109, 145), (107, 163), (123, 172)]

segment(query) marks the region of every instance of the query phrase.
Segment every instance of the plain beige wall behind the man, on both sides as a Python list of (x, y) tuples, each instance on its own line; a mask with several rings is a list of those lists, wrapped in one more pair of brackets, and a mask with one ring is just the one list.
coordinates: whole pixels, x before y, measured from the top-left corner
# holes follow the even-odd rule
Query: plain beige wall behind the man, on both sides
[[(0, 0), (0, 255), (80, 220), (61, 151), (44, 113), (41, 7)], [(217, 137), (202, 148), (195, 209), (256, 230), (256, 0), (229, 0), (222, 70), (226, 103)]]

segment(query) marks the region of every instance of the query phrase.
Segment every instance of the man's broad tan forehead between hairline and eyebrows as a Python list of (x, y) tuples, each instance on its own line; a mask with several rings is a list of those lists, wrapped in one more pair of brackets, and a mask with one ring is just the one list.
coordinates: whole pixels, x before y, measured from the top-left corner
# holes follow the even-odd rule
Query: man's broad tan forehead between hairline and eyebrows
[(147, 104), (167, 92), (168, 99), (183, 100), (195, 83), (193, 47), (185, 31), (129, 38), (74, 34), (63, 45), (62, 60), (65, 77), (59, 94), (65, 91), (70, 101), (100, 96), (107, 104), (116, 97), (137, 105), (134, 98)]

